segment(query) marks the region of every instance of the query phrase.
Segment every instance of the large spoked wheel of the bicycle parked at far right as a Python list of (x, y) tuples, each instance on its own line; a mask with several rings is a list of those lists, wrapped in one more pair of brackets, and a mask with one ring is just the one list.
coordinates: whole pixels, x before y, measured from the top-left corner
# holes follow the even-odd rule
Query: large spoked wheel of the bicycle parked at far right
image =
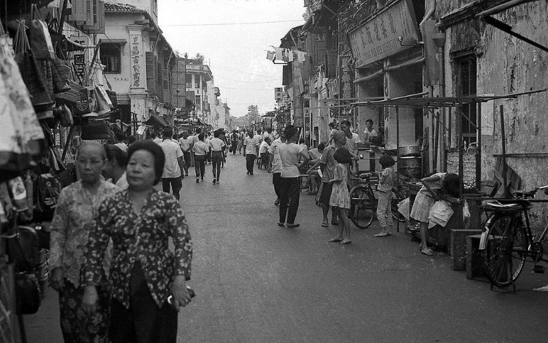
[(484, 273), (493, 285), (508, 287), (518, 279), (525, 264), (525, 228), (513, 215), (501, 215), (487, 225), (488, 244), (482, 250)]

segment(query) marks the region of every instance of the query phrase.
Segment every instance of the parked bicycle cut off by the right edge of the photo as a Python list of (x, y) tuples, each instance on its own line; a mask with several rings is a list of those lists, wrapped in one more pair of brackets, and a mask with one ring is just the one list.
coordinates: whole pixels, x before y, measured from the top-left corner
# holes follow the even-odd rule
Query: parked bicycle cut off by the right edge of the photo
[(544, 272), (544, 266), (538, 263), (548, 262), (548, 258), (544, 257), (548, 248), (548, 226), (535, 239), (529, 220), (529, 210), (532, 208), (530, 199), (539, 190), (546, 193), (548, 185), (531, 191), (515, 191), (512, 199), (488, 201), (481, 206), (488, 213), (488, 218), (482, 226), (479, 250), (484, 274), (492, 286), (505, 288), (514, 285), (525, 261), (534, 263), (534, 272)]

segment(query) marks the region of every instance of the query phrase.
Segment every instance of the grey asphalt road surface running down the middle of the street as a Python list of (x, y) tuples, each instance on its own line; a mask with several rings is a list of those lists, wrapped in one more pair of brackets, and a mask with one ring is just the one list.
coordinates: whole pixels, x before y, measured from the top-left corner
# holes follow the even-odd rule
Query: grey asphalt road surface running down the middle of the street
[[(196, 298), (179, 313), (178, 342), (546, 342), (548, 284), (531, 264), (516, 294), (491, 291), (425, 257), (403, 233), (373, 238), (352, 227), (352, 244), (327, 243), (314, 196), (301, 193), (299, 228), (277, 226), (271, 174), (245, 173), (229, 155), (221, 184), (193, 169), (183, 180)], [(62, 342), (57, 295), (25, 316), (29, 342)]]

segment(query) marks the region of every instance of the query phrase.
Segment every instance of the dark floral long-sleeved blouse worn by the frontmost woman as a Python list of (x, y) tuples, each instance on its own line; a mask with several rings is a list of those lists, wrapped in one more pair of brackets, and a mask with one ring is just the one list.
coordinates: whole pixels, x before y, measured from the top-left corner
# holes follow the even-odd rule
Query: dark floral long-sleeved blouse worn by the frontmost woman
[[(169, 250), (173, 238), (175, 253)], [(190, 280), (192, 242), (179, 202), (162, 191), (153, 191), (139, 214), (135, 213), (127, 190), (109, 198), (97, 217), (97, 230), (90, 234), (84, 279), (97, 285), (101, 261), (108, 239), (114, 243), (110, 286), (112, 296), (129, 308), (129, 278), (133, 265), (140, 261), (147, 285), (158, 307), (171, 294), (175, 276)]]

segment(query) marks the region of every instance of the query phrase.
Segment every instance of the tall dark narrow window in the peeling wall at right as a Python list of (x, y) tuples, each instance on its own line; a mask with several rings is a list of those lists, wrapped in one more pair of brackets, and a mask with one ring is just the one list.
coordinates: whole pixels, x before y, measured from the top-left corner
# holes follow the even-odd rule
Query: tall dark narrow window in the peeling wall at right
[[(456, 60), (458, 66), (458, 95), (475, 96), (476, 95), (476, 58), (475, 55), (464, 56)], [(475, 104), (462, 105), (462, 139), (466, 145), (476, 141), (476, 129), (472, 123), (477, 123)], [(468, 119), (470, 120), (468, 120)]]

